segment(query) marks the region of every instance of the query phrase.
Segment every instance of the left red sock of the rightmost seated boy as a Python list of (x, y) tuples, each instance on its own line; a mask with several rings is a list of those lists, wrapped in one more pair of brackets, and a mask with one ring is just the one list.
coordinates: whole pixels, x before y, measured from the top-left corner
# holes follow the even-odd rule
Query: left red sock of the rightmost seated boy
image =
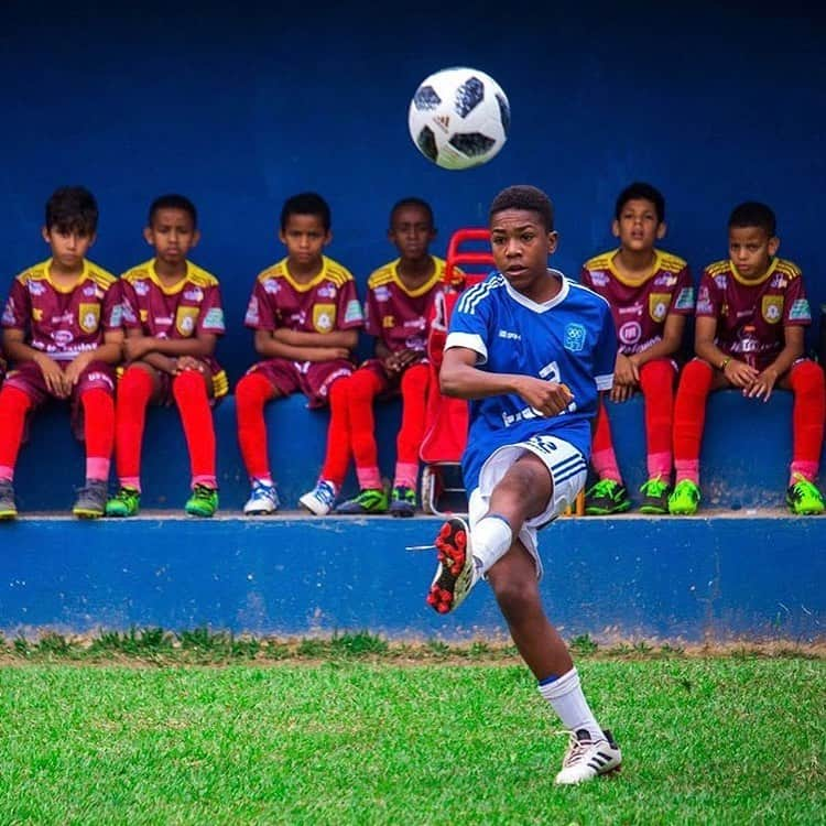
[(699, 483), (699, 446), (706, 423), (706, 401), (711, 390), (714, 371), (702, 359), (693, 359), (683, 368), (680, 389), (674, 400), (674, 467), (676, 481), (688, 479)]

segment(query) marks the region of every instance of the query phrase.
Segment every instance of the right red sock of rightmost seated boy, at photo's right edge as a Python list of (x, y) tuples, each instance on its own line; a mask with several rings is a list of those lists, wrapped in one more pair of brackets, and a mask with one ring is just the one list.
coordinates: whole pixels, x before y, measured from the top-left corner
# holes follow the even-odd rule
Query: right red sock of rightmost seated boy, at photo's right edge
[(826, 420), (823, 369), (814, 361), (798, 361), (792, 367), (789, 381), (794, 393), (792, 474), (802, 474), (814, 481), (820, 465)]

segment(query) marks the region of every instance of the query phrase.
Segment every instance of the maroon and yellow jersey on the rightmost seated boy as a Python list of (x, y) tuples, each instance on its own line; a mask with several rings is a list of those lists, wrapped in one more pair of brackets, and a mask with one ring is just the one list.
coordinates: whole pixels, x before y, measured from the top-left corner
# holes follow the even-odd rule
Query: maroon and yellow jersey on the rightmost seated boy
[(697, 317), (717, 319), (715, 344), (724, 352), (756, 356), (759, 370), (785, 345), (783, 328), (812, 324), (812, 311), (795, 264), (772, 260), (760, 281), (746, 281), (731, 261), (709, 264), (699, 283)]

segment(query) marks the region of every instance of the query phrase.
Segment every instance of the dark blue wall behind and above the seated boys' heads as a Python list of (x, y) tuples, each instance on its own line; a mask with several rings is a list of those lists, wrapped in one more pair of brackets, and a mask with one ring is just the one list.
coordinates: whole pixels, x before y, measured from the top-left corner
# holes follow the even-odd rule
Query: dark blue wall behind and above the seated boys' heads
[[(617, 192), (646, 178), (667, 197), (664, 246), (695, 273), (726, 254), (737, 202), (772, 204), (782, 254), (824, 303), (826, 12), (688, 8), (80, 0), (45, 15), (6, 3), (0, 295), (45, 257), (39, 226), (57, 185), (97, 194), (93, 258), (116, 272), (149, 257), (149, 202), (181, 191), (202, 213), (193, 258), (222, 279), (220, 356), (235, 380), (253, 359), (241, 327), (252, 280), (282, 254), (275, 220), (296, 191), (329, 199), (328, 251), (363, 284), (394, 256), (384, 230), (400, 196), (433, 202), (443, 251), (499, 188), (535, 183), (556, 202), (557, 262), (573, 273), (612, 243)], [(463, 64), (501, 83), (513, 126), (493, 162), (450, 173), (415, 150), (406, 108), (426, 75)]]

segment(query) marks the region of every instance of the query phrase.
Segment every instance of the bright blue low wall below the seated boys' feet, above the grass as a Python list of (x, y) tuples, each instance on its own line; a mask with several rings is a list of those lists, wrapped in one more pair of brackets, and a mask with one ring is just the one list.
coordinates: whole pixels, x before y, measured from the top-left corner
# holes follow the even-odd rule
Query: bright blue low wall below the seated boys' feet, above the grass
[[(504, 639), (485, 584), (448, 617), (425, 605), (435, 553), (405, 547), (432, 543), (438, 525), (387, 517), (0, 524), (0, 631), (208, 626)], [(820, 520), (559, 519), (541, 546), (543, 597), (566, 639), (824, 639)]]

